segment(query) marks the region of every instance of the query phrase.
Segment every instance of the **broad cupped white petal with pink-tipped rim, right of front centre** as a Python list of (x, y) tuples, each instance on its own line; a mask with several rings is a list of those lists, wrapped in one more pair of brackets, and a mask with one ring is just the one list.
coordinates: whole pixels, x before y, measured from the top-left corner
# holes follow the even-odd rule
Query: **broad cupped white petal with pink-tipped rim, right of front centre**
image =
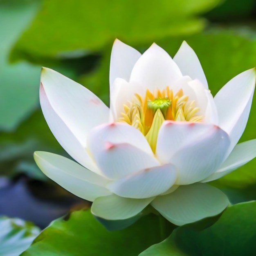
[(159, 130), (157, 157), (179, 170), (177, 185), (208, 177), (222, 163), (229, 137), (218, 126), (202, 123), (165, 122)]

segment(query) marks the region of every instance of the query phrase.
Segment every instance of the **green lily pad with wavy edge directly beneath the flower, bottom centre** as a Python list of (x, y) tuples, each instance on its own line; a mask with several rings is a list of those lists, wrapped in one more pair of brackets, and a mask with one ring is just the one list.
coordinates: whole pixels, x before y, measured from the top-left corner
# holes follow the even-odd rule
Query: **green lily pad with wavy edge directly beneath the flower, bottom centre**
[(87, 211), (73, 212), (69, 220), (55, 220), (22, 256), (137, 256), (160, 241), (158, 217), (148, 215), (121, 231), (106, 230)]

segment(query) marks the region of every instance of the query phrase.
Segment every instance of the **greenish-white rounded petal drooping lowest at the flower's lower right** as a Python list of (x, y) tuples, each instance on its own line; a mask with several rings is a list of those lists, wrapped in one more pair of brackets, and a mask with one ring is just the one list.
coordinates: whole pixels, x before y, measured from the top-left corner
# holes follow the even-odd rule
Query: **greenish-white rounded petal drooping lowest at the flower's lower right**
[(229, 205), (229, 200), (215, 187), (194, 183), (158, 196), (151, 205), (173, 224), (184, 225), (219, 214)]

